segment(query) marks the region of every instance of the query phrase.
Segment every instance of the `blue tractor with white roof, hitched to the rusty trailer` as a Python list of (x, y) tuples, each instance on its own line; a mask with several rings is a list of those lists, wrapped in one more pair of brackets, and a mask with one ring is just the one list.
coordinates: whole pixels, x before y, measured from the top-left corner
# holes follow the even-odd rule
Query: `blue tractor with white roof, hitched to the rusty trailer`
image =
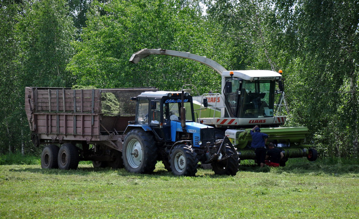
[(215, 174), (236, 175), (236, 148), (227, 137), (216, 140), (213, 127), (194, 122), (188, 92), (143, 92), (131, 100), (136, 101), (135, 121), (125, 130), (122, 149), (127, 171), (151, 173), (160, 160), (174, 175), (194, 176), (199, 162), (211, 164)]

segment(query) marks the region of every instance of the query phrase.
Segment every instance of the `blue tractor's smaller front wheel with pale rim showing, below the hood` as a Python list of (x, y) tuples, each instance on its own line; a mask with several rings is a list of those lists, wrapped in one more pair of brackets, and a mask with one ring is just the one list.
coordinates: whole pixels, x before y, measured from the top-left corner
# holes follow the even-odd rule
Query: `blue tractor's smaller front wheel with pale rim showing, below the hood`
[(197, 173), (198, 158), (192, 146), (176, 145), (171, 150), (170, 164), (174, 175), (194, 176)]

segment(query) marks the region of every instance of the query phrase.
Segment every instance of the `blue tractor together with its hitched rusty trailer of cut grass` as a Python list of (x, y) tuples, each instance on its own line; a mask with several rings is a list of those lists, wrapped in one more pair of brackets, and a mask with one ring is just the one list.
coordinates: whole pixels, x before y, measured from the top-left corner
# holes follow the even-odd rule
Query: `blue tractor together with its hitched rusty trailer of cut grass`
[(215, 174), (238, 172), (236, 148), (195, 122), (188, 92), (26, 87), (25, 110), (33, 143), (46, 145), (45, 169), (76, 169), (91, 160), (96, 168), (151, 173), (162, 161), (175, 175), (195, 175), (199, 162)]

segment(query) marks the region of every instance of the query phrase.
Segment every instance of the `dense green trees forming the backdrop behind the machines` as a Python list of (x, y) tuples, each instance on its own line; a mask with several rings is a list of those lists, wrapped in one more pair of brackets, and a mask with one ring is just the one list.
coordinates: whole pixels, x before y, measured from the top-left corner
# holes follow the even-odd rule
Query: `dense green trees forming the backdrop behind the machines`
[(0, 0), (0, 19), (1, 153), (35, 152), (25, 86), (179, 90), (189, 78), (220, 92), (219, 75), (195, 61), (128, 61), (162, 48), (282, 69), (286, 125), (308, 126), (323, 155), (358, 155), (358, 0)]

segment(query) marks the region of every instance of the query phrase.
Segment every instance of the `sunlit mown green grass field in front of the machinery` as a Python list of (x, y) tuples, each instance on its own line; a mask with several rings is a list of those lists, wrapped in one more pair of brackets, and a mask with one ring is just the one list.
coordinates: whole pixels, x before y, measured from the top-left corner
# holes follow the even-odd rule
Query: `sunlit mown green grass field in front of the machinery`
[(358, 218), (359, 165), (291, 159), (236, 176), (0, 165), (0, 218)]

